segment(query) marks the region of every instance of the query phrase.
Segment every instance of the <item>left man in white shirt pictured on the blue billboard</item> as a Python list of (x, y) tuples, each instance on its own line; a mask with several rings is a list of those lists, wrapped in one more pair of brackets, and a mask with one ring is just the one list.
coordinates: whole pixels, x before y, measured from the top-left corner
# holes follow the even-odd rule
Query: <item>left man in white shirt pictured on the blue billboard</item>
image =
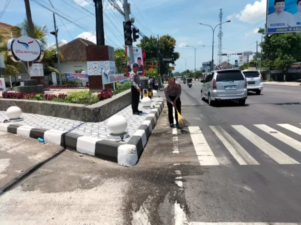
[(275, 0), (275, 12), (267, 16), (267, 28), (294, 26), (292, 14), (284, 11), (285, 0)]

